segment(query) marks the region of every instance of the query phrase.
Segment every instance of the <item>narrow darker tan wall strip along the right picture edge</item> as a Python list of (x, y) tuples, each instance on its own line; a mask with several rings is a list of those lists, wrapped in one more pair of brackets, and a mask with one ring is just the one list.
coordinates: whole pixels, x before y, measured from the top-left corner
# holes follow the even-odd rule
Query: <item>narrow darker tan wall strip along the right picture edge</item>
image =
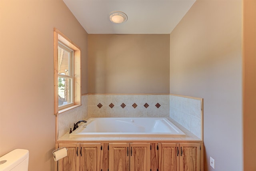
[(244, 0), (244, 171), (256, 170), (256, 1)]

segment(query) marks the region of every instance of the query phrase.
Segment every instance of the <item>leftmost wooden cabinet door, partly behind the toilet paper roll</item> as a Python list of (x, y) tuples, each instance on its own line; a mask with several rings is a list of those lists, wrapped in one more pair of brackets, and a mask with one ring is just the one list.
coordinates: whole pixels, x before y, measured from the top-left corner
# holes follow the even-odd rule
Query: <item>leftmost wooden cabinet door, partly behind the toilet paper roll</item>
[(67, 157), (60, 159), (58, 162), (59, 171), (79, 171), (79, 143), (59, 144), (59, 148), (66, 147), (68, 149)]

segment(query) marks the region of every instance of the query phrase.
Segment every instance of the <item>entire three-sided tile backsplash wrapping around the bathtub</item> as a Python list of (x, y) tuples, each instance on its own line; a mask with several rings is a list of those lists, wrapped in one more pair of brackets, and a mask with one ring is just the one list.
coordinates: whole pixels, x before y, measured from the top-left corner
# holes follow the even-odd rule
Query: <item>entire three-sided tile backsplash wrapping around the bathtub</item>
[(58, 117), (58, 137), (90, 117), (171, 117), (201, 138), (201, 100), (170, 94), (86, 94), (82, 105)]

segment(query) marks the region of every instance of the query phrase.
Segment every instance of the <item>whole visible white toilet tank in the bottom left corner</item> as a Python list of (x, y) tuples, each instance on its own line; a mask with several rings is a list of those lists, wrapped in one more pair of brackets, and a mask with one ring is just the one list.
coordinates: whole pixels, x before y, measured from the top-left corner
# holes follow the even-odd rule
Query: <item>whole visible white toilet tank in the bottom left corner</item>
[(28, 171), (29, 152), (15, 149), (0, 157), (0, 171)]

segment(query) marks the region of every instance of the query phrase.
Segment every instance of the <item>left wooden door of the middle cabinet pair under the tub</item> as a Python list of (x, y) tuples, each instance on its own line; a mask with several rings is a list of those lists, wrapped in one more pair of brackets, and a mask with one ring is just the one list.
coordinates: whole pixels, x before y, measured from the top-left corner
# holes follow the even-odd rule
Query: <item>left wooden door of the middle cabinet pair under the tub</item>
[(109, 143), (109, 170), (129, 171), (129, 143)]

